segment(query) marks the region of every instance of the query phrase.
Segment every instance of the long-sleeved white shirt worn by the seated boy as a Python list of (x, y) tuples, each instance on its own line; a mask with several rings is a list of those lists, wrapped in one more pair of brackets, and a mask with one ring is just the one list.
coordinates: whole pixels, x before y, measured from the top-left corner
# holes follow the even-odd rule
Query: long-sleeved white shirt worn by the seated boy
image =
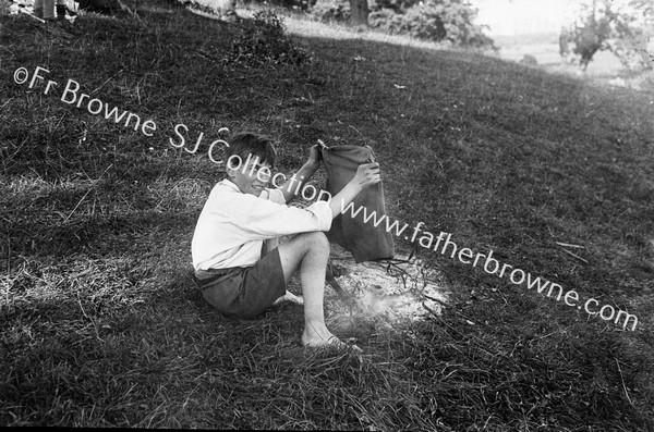
[(280, 189), (264, 189), (255, 197), (226, 178), (214, 186), (197, 219), (191, 243), (193, 267), (251, 267), (262, 258), (266, 239), (330, 227), (327, 201), (301, 209), (287, 206)]

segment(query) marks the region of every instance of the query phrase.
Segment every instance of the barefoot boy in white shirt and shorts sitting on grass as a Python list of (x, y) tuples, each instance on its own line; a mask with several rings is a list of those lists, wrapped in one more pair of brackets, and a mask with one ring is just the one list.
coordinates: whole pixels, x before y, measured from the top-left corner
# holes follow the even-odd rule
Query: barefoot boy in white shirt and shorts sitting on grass
[[(323, 232), (361, 190), (379, 183), (379, 165), (360, 165), (329, 201), (306, 209), (286, 203), (320, 166), (312, 147), (308, 161), (279, 188), (266, 188), (276, 152), (269, 138), (234, 135), (227, 151), (227, 178), (211, 190), (192, 242), (195, 279), (203, 297), (220, 312), (254, 317), (281, 300), (304, 304), (303, 346), (346, 346), (325, 325), (323, 297), (329, 243)], [(277, 238), (293, 235), (277, 246)], [(300, 269), (303, 299), (287, 291)]]

